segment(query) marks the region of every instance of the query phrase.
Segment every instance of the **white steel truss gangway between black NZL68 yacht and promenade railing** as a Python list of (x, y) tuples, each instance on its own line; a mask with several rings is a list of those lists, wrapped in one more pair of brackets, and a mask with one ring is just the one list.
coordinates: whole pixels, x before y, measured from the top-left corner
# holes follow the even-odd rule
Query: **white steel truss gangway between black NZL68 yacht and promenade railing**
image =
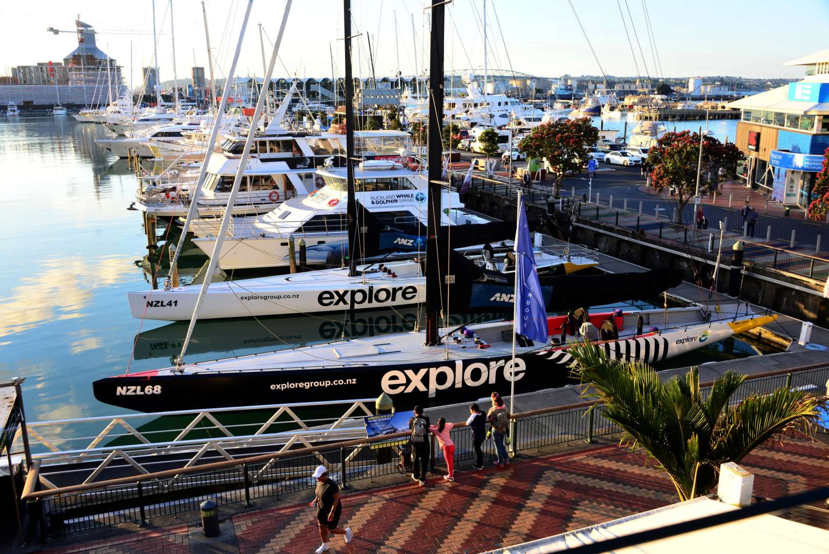
[[(59, 488), (365, 438), (362, 417), (375, 415), (375, 401), (131, 413), (26, 428), (41, 488)], [(21, 442), (17, 430), (13, 444)]]

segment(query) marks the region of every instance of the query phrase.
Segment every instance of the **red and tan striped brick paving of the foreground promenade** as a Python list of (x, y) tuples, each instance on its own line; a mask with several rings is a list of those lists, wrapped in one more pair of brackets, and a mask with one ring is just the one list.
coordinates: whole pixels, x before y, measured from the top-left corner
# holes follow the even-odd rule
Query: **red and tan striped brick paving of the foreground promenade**
[[(779, 498), (825, 485), (827, 457), (829, 446), (790, 438), (755, 450), (743, 465), (754, 473), (755, 496)], [(456, 479), (344, 493), (341, 524), (351, 526), (354, 540), (346, 545), (333, 536), (329, 552), (482, 552), (676, 502), (671, 482), (652, 461), (616, 446), (519, 457), (506, 469), (461, 469)], [(315, 508), (299, 503), (240, 513), (222, 526), (223, 532), (232, 527), (244, 554), (313, 552), (319, 545), (315, 515)], [(829, 529), (829, 517), (817, 510), (783, 515)], [(187, 532), (187, 525), (158, 528), (48, 552), (202, 552)], [(225, 546), (216, 552), (233, 552)]]

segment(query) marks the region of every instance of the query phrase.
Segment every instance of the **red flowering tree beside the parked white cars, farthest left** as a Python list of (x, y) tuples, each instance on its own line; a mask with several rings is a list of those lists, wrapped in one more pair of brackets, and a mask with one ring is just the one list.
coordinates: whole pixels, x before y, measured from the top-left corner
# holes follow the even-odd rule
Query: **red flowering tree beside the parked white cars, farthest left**
[(558, 196), (561, 181), (568, 172), (580, 173), (587, 166), (587, 149), (599, 140), (589, 118), (555, 121), (537, 126), (518, 148), (527, 158), (545, 158), (547, 171), (555, 179), (553, 194)]

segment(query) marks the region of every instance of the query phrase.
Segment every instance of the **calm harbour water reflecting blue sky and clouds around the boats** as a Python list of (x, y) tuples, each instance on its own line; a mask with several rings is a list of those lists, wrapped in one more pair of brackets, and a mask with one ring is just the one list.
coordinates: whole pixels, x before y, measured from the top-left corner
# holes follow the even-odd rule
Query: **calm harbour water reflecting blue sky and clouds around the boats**
[[(622, 127), (617, 120), (605, 128), (613, 124)], [(712, 121), (709, 128), (724, 139), (734, 137), (735, 126)], [(31, 420), (123, 412), (96, 401), (91, 382), (169, 365), (187, 331), (187, 324), (142, 323), (129, 313), (126, 293), (148, 289), (151, 276), (140, 212), (126, 210), (136, 179), (125, 160), (95, 144), (110, 135), (102, 125), (71, 117), (0, 119), (0, 231), (7, 237), (0, 266), (0, 379), (28, 376)], [(351, 322), (342, 316), (206, 321), (196, 325), (187, 359), (400, 332), (414, 318), (412, 309), (358, 313)], [(692, 361), (677, 358), (672, 367), (757, 353), (739, 340), (710, 349)]]

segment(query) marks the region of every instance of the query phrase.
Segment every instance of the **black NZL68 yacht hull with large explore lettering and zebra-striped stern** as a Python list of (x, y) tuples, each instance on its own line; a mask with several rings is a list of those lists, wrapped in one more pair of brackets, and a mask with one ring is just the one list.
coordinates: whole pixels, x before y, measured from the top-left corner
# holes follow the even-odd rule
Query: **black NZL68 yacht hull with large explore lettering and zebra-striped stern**
[[(708, 344), (771, 323), (775, 316), (738, 322), (700, 323), (663, 333), (646, 333), (598, 343), (609, 357), (662, 362)], [(548, 318), (548, 329), (550, 320)], [(555, 327), (555, 323), (552, 323)], [(511, 323), (482, 323), (469, 329), (511, 334)], [(389, 395), (395, 409), (476, 401), (492, 391), (506, 394), (564, 386), (574, 363), (568, 350), (522, 347), (512, 362), (509, 343), (476, 347), (472, 340), (447, 347), (420, 347), (422, 333), (386, 335), (282, 352), (252, 354), (216, 362), (106, 377), (93, 383), (95, 398), (137, 411), (195, 410), (308, 401), (337, 401)], [(403, 350), (395, 350), (405, 344)], [(444, 348), (449, 357), (444, 359)], [(353, 350), (353, 352), (350, 352)], [(308, 362), (298, 362), (303, 356)], [(390, 361), (385, 361), (389, 359)]]

